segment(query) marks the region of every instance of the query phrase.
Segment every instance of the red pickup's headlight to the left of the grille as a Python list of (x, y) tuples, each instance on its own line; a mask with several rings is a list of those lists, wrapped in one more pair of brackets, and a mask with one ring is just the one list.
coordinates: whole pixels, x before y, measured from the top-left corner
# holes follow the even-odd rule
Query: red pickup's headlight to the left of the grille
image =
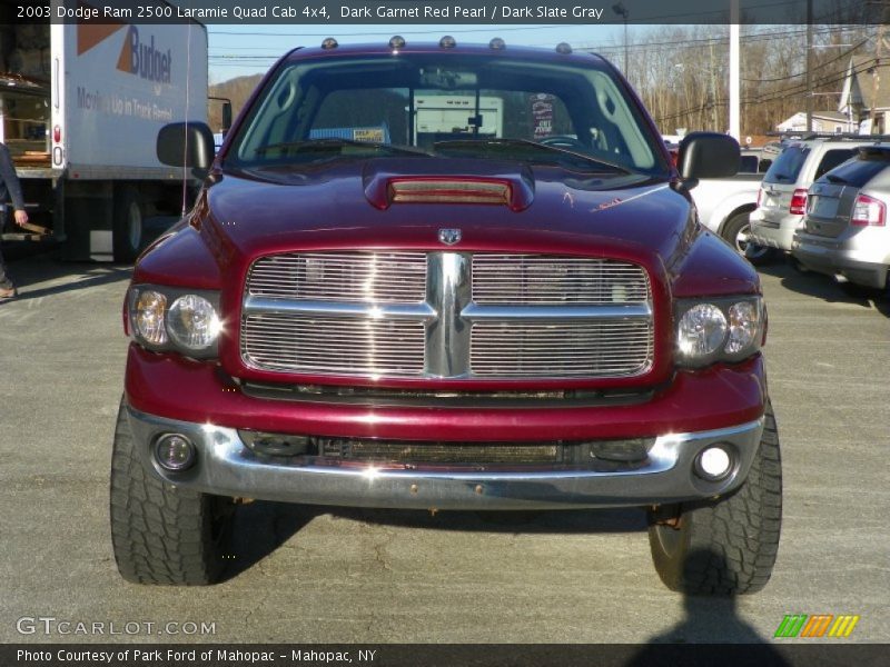
[(218, 292), (136, 286), (130, 289), (130, 330), (139, 344), (155, 351), (216, 357), (222, 330), (218, 305)]

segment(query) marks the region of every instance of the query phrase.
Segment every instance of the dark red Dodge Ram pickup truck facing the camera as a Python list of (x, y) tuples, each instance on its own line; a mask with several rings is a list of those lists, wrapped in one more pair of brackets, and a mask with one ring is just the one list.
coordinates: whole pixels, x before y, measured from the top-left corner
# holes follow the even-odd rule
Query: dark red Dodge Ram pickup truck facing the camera
[(111, 527), (125, 578), (221, 576), (235, 499), (639, 506), (675, 590), (770, 577), (781, 466), (758, 276), (704, 229), (613, 66), (439, 43), (297, 49), (136, 265)]

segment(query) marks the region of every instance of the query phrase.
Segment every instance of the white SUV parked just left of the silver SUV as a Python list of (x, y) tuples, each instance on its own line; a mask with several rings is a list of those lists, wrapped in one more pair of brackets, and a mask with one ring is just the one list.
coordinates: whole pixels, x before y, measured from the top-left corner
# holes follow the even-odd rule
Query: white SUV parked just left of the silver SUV
[(807, 190), (824, 173), (856, 156), (874, 139), (860, 135), (817, 136), (791, 140), (770, 166), (751, 213), (750, 243), (791, 251), (794, 231), (807, 212)]

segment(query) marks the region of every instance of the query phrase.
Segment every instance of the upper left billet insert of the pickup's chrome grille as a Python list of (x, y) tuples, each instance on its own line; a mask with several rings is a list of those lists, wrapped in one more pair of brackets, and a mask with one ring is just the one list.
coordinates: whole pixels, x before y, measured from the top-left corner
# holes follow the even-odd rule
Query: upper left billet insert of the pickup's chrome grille
[(426, 298), (425, 252), (274, 255), (250, 269), (259, 297), (339, 302), (417, 302)]

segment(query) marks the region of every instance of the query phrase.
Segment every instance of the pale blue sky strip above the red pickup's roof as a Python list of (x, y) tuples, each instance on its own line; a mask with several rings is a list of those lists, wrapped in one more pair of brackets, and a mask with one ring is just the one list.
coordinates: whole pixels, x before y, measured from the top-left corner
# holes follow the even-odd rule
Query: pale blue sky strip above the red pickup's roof
[[(630, 41), (651, 26), (630, 26)], [(555, 47), (568, 42), (575, 48), (610, 48), (610, 56), (619, 63), (620, 48), (624, 43), (622, 26), (553, 26), (553, 24), (392, 24), (392, 26), (300, 26), (277, 24), (208, 24), (210, 51), (210, 83), (219, 83), (235, 77), (265, 72), (285, 51), (294, 47), (318, 46), (326, 37), (340, 43), (387, 42), (394, 34), (407, 41), (438, 41), (451, 34), (458, 43), (487, 43), (500, 37), (511, 43), (525, 47)], [(619, 49), (613, 51), (613, 49)]]

